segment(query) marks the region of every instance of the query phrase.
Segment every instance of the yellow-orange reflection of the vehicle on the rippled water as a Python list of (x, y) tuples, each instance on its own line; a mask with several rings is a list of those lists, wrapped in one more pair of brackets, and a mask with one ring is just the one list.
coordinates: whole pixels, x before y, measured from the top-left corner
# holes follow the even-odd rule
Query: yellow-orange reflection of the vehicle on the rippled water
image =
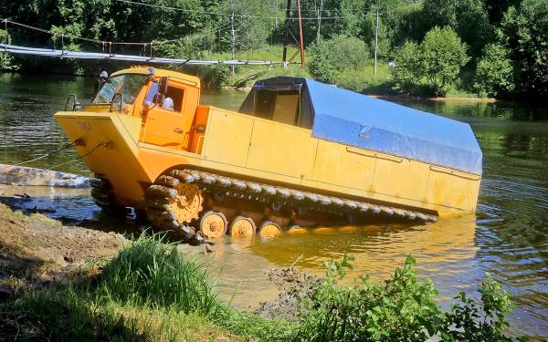
[[(406, 255), (416, 257), (417, 267), (427, 275), (449, 275), (458, 284), (473, 272), (478, 247), (474, 244), (473, 214), (426, 225), (385, 224), (309, 229), (298, 236), (285, 233), (276, 243), (257, 241), (249, 246), (269, 264), (287, 267), (300, 258), (300, 268), (322, 274), (322, 262), (354, 254), (349, 281), (369, 274), (385, 278), (403, 264)], [(458, 280), (460, 275), (460, 280)], [(480, 276), (480, 275), (479, 275)]]

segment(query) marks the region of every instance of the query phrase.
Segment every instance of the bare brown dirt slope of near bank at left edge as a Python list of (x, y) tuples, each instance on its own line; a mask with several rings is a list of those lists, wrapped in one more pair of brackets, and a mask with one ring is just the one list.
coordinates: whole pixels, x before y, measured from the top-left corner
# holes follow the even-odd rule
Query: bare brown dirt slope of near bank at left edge
[(0, 204), (0, 293), (62, 282), (82, 266), (115, 255), (125, 241), (120, 233), (66, 227)]

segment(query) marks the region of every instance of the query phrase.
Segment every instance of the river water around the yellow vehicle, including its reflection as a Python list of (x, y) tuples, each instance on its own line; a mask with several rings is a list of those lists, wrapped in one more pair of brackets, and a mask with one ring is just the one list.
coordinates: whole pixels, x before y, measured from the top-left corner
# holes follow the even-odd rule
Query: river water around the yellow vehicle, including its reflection
[[(0, 162), (16, 163), (57, 150), (66, 143), (52, 114), (68, 94), (90, 98), (88, 78), (0, 75)], [(237, 109), (245, 92), (204, 94), (203, 103)], [(548, 336), (548, 109), (512, 103), (396, 100), (468, 122), (483, 150), (483, 180), (476, 215), (419, 226), (334, 227), (282, 234), (274, 240), (217, 245), (211, 258), (222, 264), (227, 291), (237, 288), (237, 303), (254, 306), (276, 289), (265, 275), (271, 267), (298, 267), (321, 275), (324, 261), (354, 254), (347, 283), (368, 273), (381, 280), (416, 257), (419, 275), (429, 276), (448, 307), (458, 291), (476, 289), (490, 273), (512, 295), (514, 333)], [(63, 150), (28, 166), (89, 175), (73, 150)], [(52, 216), (75, 220), (101, 218), (89, 192), (47, 189), (29, 192), (32, 205)], [(75, 203), (77, 203), (75, 205)]]

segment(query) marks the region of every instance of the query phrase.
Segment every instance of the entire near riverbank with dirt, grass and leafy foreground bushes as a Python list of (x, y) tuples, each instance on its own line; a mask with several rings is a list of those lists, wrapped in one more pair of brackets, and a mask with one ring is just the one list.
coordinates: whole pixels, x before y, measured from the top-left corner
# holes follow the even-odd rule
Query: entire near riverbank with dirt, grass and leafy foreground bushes
[[(98, 248), (82, 247), (90, 244)], [(221, 300), (209, 264), (181, 254), (164, 233), (125, 238), (0, 205), (0, 338), (526, 340), (508, 335), (510, 297), (490, 275), (479, 285), (479, 299), (460, 293), (443, 311), (411, 256), (382, 283), (363, 275), (356, 285), (340, 285), (352, 261), (345, 255), (326, 263), (323, 278), (293, 267), (276, 271), (288, 278), (279, 286), (286, 306), (263, 303), (259, 308), (269, 309), (264, 317), (260, 309), (238, 311)], [(276, 314), (280, 310), (285, 315)]]

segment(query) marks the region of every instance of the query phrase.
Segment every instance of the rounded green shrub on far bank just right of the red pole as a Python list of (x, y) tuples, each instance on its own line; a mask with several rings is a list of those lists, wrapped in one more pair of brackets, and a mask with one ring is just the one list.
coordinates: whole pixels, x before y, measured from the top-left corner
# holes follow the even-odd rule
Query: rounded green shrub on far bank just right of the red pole
[(333, 36), (320, 40), (309, 49), (311, 60), (308, 63), (311, 75), (327, 83), (339, 84), (342, 72), (358, 72), (365, 67), (369, 57), (365, 43), (353, 36)]

